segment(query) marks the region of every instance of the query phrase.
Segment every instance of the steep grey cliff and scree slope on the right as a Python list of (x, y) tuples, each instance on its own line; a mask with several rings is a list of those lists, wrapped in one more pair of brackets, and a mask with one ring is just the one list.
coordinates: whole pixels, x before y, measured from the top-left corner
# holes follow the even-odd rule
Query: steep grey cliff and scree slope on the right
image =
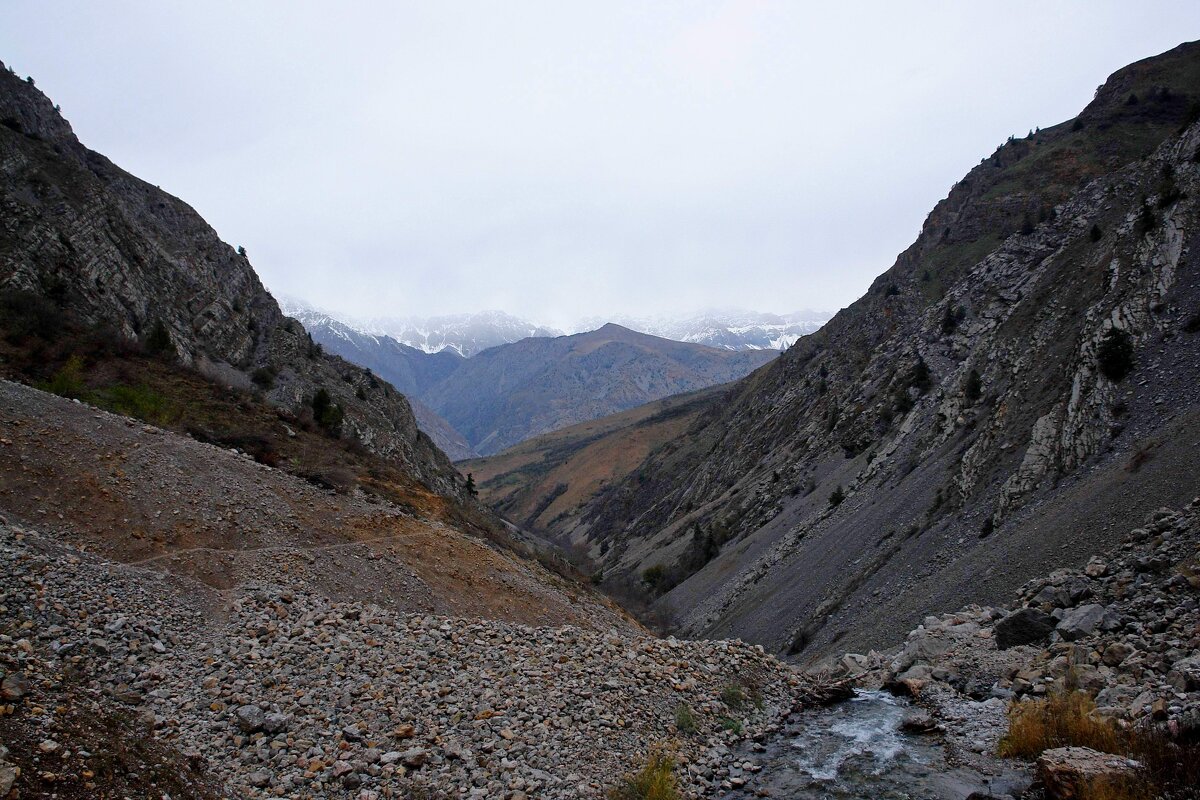
[(576, 540), (611, 583), (661, 564), (685, 631), (811, 656), (1186, 503), (1198, 100), (1186, 44), (998, 148), (863, 299), (589, 501)]

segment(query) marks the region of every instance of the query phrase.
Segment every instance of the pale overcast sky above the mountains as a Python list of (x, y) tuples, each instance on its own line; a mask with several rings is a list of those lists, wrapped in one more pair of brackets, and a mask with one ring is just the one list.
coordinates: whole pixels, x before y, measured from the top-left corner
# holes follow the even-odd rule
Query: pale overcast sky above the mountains
[(1200, 2), (0, 2), (0, 59), (280, 293), (840, 308)]

